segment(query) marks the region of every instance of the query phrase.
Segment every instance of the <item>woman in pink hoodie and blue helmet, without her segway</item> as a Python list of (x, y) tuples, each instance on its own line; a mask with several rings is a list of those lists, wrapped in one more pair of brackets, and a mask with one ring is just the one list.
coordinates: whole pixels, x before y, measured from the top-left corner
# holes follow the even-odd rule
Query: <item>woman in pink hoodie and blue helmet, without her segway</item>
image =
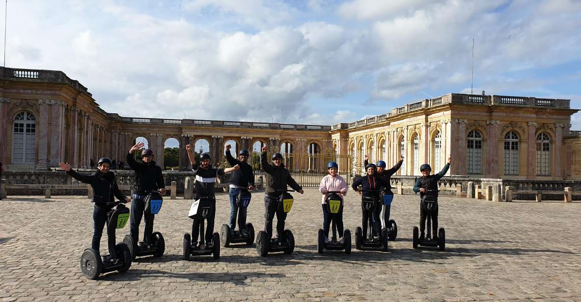
[[(331, 226), (331, 214), (325, 209), (325, 204), (327, 204), (327, 197), (329, 196), (329, 191), (341, 192), (339, 197), (347, 195), (347, 182), (345, 179), (338, 174), (339, 166), (335, 161), (329, 161), (327, 164), (327, 171), (329, 175), (325, 175), (321, 179), (321, 184), (319, 185), (319, 191), (323, 194), (322, 197), (322, 208), (323, 208), (323, 231), (325, 232), (325, 243), (329, 242), (329, 227)], [(342, 195), (342, 196), (341, 196)], [(336, 214), (337, 221), (337, 231), (340, 235), (343, 235), (343, 208)], [(339, 236), (340, 236), (339, 235)], [(344, 243), (343, 237), (340, 238), (340, 243)]]

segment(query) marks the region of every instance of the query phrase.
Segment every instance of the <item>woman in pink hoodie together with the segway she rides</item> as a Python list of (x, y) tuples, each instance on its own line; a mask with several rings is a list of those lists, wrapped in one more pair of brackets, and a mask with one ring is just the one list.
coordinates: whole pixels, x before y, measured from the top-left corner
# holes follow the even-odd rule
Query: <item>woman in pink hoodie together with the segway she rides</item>
[[(328, 175), (321, 179), (319, 191), (322, 196), (323, 228), (318, 231), (318, 253), (324, 250), (345, 250), (351, 253), (351, 231), (343, 231), (343, 197), (347, 195), (347, 183), (338, 174), (338, 164), (327, 164)], [(332, 224), (333, 236), (329, 240), (329, 226)], [(337, 237), (337, 231), (339, 236)]]

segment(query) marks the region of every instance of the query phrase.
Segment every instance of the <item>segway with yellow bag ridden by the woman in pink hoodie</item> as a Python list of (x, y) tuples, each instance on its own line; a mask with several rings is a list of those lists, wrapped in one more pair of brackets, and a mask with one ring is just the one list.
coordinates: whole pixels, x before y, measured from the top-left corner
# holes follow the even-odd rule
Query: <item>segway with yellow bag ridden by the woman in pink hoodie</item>
[(337, 214), (343, 209), (343, 199), (339, 196), (340, 191), (328, 191), (327, 204), (325, 204), (325, 211), (331, 215), (331, 225), (333, 229), (333, 236), (331, 240), (325, 243), (325, 231), (319, 229), (317, 250), (321, 254), (324, 250), (345, 250), (345, 254), (351, 254), (351, 231), (346, 229), (343, 231), (343, 243), (337, 240)]

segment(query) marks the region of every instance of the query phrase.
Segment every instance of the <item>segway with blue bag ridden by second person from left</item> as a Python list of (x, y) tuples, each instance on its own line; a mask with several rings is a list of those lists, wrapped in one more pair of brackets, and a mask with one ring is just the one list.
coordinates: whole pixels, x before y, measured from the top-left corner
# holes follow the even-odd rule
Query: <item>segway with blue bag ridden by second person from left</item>
[[(144, 231), (144, 241), (134, 242), (131, 235), (125, 236), (123, 243), (129, 247), (131, 251), (132, 260), (135, 257), (149, 256), (153, 255), (159, 257), (163, 255), (166, 250), (166, 241), (163, 240), (162, 233), (153, 232), (153, 220), (155, 215), (159, 213), (162, 208), (163, 197), (159, 192), (152, 190), (146, 191), (148, 195), (145, 196), (145, 231)], [(141, 198), (142, 196), (136, 196)], [(149, 216), (149, 219), (146, 218)]]

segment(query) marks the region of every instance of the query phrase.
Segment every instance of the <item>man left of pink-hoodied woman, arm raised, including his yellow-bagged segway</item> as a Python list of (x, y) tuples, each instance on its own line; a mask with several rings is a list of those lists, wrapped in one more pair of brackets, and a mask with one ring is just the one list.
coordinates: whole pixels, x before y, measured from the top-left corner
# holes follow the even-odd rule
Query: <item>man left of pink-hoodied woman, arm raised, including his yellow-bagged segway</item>
[[(272, 154), (272, 164), (266, 159), (266, 146), (260, 154), (260, 164), (264, 170), (266, 181), (264, 193), (264, 231), (260, 231), (256, 237), (256, 251), (260, 256), (266, 256), (269, 252), (284, 251), (290, 254), (295, 249), (295, 238), (289, 229), (285, 229), (286, 215), (292, 209), (293, 197), (286, 186), (301, 194), (303, 188), (296, 183), (282, 164), (282, 154)], [(272, 238), (272, 220), (277, 215), (277, 238)]]

